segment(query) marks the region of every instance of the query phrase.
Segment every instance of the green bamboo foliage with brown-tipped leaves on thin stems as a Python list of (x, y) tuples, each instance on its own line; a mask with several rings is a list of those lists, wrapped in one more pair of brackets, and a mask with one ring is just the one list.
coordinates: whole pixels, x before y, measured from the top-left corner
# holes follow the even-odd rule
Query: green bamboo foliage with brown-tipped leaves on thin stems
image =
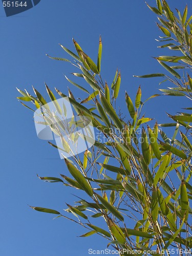
[[(161, 45), (160, 48), (177, 50), (180, 54), (175, 56), (158, 56), (155, 59), (164, 68), (164, 73), (137, 76), (140, 78), (162, 77), (172, 83), (173, 87), (160, 89), (161, 93), (168, 96), (192, 99), (192, 69), (191, 32), (192, 16), (188, 17), (187, 6), (181, 14), (170, 10), (165, 0), (157, 0), (157, 5), (147, 6), (158, 17), (158, 28), (163, 36), (159, 43), (171, 41)], [(102, 42), (99, 38), (99, 50), (97, 64), (83, 52), (79, 44), (73, 39), (76, 53), (61, 48), (73, 58), (69, 59), (50, 57), (54, 60), (73, 63), (77, 69), (74, 76), (82, 79), (86, 84), (77, 84), (72, 79), (67, 80), (73, 86), (85, 94), (84, 100), (78, 102), (71, 90), (69, 100), (73, 106), (74, 117), (89, 117), (100, 139), (83, 154), (71, 155), (65, 158), (65, 175), (58, 177), (39, 177), (47, 182), (57, 182), (69, 189), (81, 190), (81, 198), (74, 205), (67, 204), (66, 215), (63, 212), (33, 207), (33, 209), (65, 217), (88, 229), (80, 237), (89, 237), (99, 234), (108, 240), (108, 245), (117, 250), (139, 249), (157, 250), (156, 255), (169, 255), (172, 246), (178, 249), (190, 250), (191, 239), (191, 204), (192, 186), (191, 164), (192, 155), (191, 123), (192, 108), (185, 108), (187, 113), (168, 114), (169, 123), (154, 123), (150, 126), (152, 118), (145, 117), (142, 113), (145, 102), (159, 95), (142, 99), (141, 87), (136, 90), (135, 101), (125, 93), (124, 113), (129, 119), (125, 122), (117, 113), (116, 104), (119, 100), (121, 81), (120, 72), (117, 70), (112, 76), (112, 86), (103, 83), (101, 78)], [(180, 56), (181, 55), (181, 56)], [(75, 64), (74, 64), (75, 63)], [(173, 66), (176, 63), (178, 66)], [(172, 66), (170, 66), (172, 65)], [(176, 71), (177, 70), (177, 71)], [(189, 73), (189, 74), (188, 74)], [(33, 88), (34, 96), (27, 91), (17, 89), (22, 97), (17, 97), (27, 108), (44, 109), (47, 103), (45, 98)], [(46, 84), (46, 90), (51, 100), (58, 97), (66, 97), (58, 89), (54, 94)], [(23, 103), (26, 101), (27, 105)], [(134, 102), (134, 103), (133, 103)], [(183, 101), (185, 102), (185, 101)], [(32, 106), (28, 106), (32, 103)], [(92, 108), (90, 109), (90, 104)], [(127, 108), (126, 108), (127, 106)], [(61, 107), (55, 105), (58, 113)], [(63, 107), (65, 108), (65, 106)], [(61, 136), (67, 132), (71, 124), (58, 120), (56, 114), (46, 110), (44, 124), (49, 125), (52, 131), (61, 137), (64, 151), (71, 153), (69, 143)], [(182, 110), (183, 111), (183, 110)], [(65, 115), (67, 109), (65, 109)], [(53, 120), (57, 121), (54, 124)], [(76, 125), (80, 125), (77, 122)], [(172, 129), (173, 136), (166, 134), (164, 127)], [(140, 131), (140, 133), (139, 133)], [(76, 140), (77, 138), (73, 138)], [(91, 138), (88, 138), (91, 140)], [(163, 140), (163, 141), (162, 141)], [(53, 147), (57, 147), (49, 142)], [(78, 195), (78, 194), (77, 194)], [(82, 199), (82, 197), (84, 197)], [(92, 215), (90, 215), (90, 213)], [(101, 227), (94, 222), (100, 218)], [(159, 252), (164, 250), (164, 253)], [(129, 255), (129, 254), (123, 254)], [(152, 254), (153, 255), (153, 254)]]

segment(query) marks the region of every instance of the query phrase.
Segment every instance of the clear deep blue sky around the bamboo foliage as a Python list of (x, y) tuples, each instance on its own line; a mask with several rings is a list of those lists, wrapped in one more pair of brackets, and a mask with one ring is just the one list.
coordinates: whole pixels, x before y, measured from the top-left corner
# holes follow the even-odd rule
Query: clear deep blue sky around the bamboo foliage
[[(185, 1), (169, 0), (181, 9)], [(155, 6), (155, 1), (148, 2)], [(192, 13), (192, 4), (188, 4)], [(60, 183), (40, 181), (39, 176), (65, 174), (66, 165), (46, 141), (36, 136), (33, 113), (16, 99), (16, 87), (32, 93), (33, 86), (46, 95), (44, 81), (67, 93), (70, 85), (63, 74), (74, 68), (46, 54), (67, 57), (59, 43), (73, 49), (72, 37), (96, 60), (99, 34), (102, 35), (101, 74), (110, 84), (116, 68), (121, 70), (121, 94), (117, 102), (127, 112), (124, 91), (135, 98), (141, 84), (142, 99), (158, 93), (161, 79), (139, 79), (133, 75), (161, 73), (152, 56), (166, 55), (158, 49), (156, 16), (144, 1), (41, 0), (34, 8), (6, 17), (0, 5), (0, 86), (1, 86), (1, 185), (0, 254), (2, 256), (89, 255), (88, 249), (104, 249), (106, 241), (97, 235), (77, 238), (86, 230), (65, 219), (32, 210), (29, 205), (62, 211), (66, 202), (76, 200), (74, 191)], [(70, 76), (70, 75), (69, 75)], [(162, 84), (163, 87), (166, 84)], [(167, 84), (168, 86), (168, 84)], [(71, 86), (75, 97), (79, 91)], [(145, 106), (147, 117), (158, 123), (168, 120), (167, 108), (180, 111), (182, 98), (158, 97)], [(155, 104), (154, 104), (155, 103)]]

